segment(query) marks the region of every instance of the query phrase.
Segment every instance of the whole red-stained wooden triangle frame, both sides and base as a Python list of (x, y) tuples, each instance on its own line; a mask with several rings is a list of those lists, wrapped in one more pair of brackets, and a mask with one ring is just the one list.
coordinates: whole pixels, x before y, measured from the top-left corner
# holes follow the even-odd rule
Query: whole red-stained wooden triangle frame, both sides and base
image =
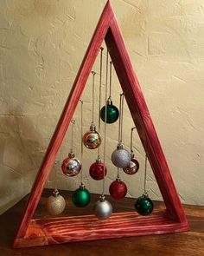
[[(162, 212), (154, 211), (148, 217), (141, 217), (133, 212), (113, 213), (112, 217), (105, 221), (97, 220), (93, 215), (80, 216), (80, 218), (67, 217), (32, 220), (35, 208), (41, 198), (43, 187), (48, 179), (48, 174), (54, 165), (56, 154), (61, 147), (73, 117), (73, 112), (80, 100), (80, 95), (85, 88), (88, 75), (92, 70), (92, 65), (98, 56), (104, 39), (112, 57), (112, 63), (117, 72), (118, 80), (124, 91), (126, 102), (130, 108), (132, 119), (137, 127), (138, 135), (143, 143), (143, 148), (148, 155), (150, 166), (163, 195), (166, 210)], [(92, 223), (91, 225), (90, 222)], [(112, 225), (113, 223), (114, 225)], [(73, 229), (74, 225), (79, 225), (77, 226), (77, 231)], [(29, 195), (27, 206), (22, 215), (13, 247), (44, 246), (70, 241), (174, 233), (187, 230), (188, 221), (183, 212), (181, 201), (176, 192), (163, 149), (157, 138), (142, 90), (137, 81), (137, 76), (133, 70), (130, 56), (125, 48), (116, 16), (110, 1), (108, 1), (100, 16), (91, 43), (86, 50), (86, 55), (80, 65), (80, 70), (75, 78), (73, 88), (54, 131), (52, 140), (49, 143), (47, 153), (41, 163), (40, 170)]]

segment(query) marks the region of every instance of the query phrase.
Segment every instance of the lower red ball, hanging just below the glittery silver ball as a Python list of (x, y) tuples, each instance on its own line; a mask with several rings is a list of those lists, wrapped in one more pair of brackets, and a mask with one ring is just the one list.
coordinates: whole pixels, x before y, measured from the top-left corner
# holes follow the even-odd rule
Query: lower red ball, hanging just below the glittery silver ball
[(127, 186), (124, 181), (117, 178), (116, 181), (113, 181), (110, 185), (109, 193), (116, 200), (122, 199), (127, 194)]

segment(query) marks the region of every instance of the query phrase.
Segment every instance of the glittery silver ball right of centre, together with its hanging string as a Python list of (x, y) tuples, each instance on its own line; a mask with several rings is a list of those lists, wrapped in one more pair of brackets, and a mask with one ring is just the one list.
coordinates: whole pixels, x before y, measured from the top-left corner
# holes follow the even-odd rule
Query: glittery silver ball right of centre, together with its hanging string
[(123, 112), (124, 112), (124, 94), (120, 95), (119, 106), (119, 129), (118, 129), (118, 146), (112, 152), (112, 163), (116, 167), (127, 167), (131, 161), (131, 154), (123, 148), (122, 135), (123, 135)]

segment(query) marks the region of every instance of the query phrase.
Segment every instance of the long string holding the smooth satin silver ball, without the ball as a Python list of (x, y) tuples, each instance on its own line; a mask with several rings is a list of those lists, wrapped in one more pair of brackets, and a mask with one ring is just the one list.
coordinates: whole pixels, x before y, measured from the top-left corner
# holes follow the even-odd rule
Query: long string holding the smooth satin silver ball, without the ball
[(102, 196), (105, 193), (105, 154), (106, 154), (106, 126), (107, 126), (107, 88), (108, 88), (108, 49), (106, 52), (106, 74), (105, 74), (105, 126), (104, 126), (104, 178), (103, 178), (103, 190)]

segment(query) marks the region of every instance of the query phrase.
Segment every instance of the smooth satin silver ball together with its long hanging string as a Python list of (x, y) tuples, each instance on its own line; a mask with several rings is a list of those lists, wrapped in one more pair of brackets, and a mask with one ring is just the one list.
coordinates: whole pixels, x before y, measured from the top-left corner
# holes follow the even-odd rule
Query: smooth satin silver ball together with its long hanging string
[[(102, 55), (102, 49), (101, 49), (101, 55)], [(100, 61), (102, 62), (102, 58), (100, 58)], [(100, 62), (100, 63), (101, 63)], [(102, 65), (100, 65), (100, 78), (101, 78), (101, 70), (102, 70)], [(107, 102), (107, 86), (108, 86), (108, 50), (106, 53), (106, 77), (105, 77), (105, 102)], [(100, 85), (101, 85), (101, 79), (100, 79)], [(100, 94), (99, 94), (100, 95)], [(100, 104), (99, 104), (100, 106)], [(107, 105), (105, 104), (105, 114), (107, 110)], [(100, 109), (100, 108), (99, 108)], [(107, 220), (111, 215), (112, 215), (112, 204), (108, 201), (105, 200), (105, 158), (106, 158), (106, 117), (105, 115), (105, 138), (104, 138), (104, 168), (103, 168), (103, 188), (102, 188), (102, 194), (99, 198), (99, 200), (94, 204), (93, 207), (93, 212), (95, 213), (96, 217), (99, 220)], [(100, 122), (99, 122), (100, 123)]]

